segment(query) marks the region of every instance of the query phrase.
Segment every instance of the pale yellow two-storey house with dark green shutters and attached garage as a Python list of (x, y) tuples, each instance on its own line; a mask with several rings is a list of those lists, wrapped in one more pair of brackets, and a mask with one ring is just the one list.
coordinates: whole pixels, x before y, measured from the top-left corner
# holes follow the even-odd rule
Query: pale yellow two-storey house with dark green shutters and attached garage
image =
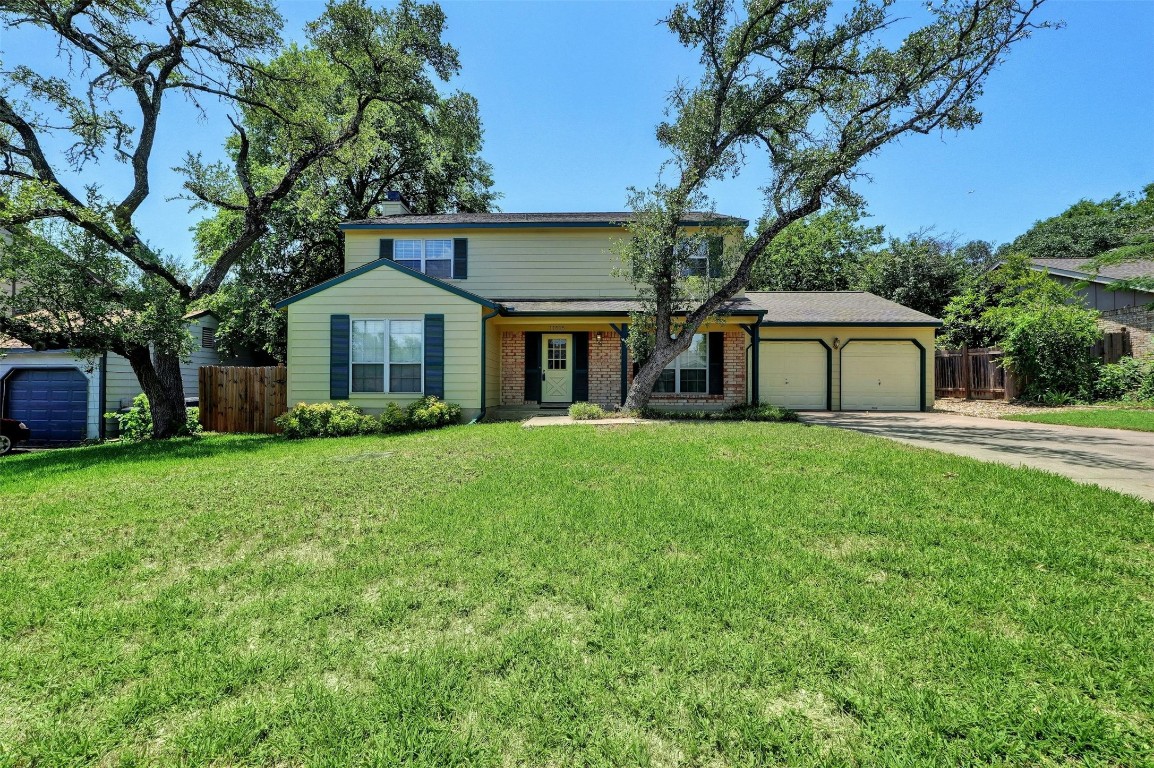
[[(342, 225), (344, 274), (278, 304), (290, 404), (349, 400), (372, 413), (435, 394), (472, 419), (623, 401), (639, 303), (610, 246), (629, 213), (417, 216), (395, 194), (389, 205)], [(700, 259), (700, 272), (715, 268)], [(669, 367), (652, 404), (924, 409), (938, 325), (868, 293), (740, 295)]]

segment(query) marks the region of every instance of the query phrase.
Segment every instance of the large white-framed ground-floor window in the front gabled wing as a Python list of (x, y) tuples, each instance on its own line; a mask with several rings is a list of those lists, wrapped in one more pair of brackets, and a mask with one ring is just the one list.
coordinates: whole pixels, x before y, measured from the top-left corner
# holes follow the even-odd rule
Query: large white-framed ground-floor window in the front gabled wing
[(421, 321), (353, 321), (351, 348), (353, 392), (421, 392), (425, 360)]

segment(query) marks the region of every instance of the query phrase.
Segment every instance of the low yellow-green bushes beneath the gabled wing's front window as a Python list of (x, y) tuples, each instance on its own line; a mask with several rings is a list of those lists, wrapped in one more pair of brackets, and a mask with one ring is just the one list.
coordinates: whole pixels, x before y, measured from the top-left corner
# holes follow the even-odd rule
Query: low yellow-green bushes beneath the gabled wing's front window
[(390, 435), (455, 424), (460, 421), (460, 406), (425, 397), (407, 408), (390, 402), (380, 416), (370, 416), (349, 402), (299, 402), (276, 421), (290, 439)]

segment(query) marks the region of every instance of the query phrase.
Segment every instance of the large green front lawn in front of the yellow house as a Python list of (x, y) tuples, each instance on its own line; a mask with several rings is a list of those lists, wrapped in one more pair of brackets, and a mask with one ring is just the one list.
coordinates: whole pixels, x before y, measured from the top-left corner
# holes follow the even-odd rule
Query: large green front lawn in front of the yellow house
[(1151, 765), (1154, 506), (799, 424), (0, 460), (0, 766)]

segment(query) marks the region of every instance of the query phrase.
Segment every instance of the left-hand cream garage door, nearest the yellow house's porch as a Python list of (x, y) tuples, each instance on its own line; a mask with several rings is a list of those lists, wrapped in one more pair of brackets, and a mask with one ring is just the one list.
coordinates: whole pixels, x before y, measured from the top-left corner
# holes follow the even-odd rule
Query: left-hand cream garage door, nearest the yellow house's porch
[(796, 411), (829, 408), (829, 356), (817, 341), (762, 341), (758, 386), (762, 402)]

